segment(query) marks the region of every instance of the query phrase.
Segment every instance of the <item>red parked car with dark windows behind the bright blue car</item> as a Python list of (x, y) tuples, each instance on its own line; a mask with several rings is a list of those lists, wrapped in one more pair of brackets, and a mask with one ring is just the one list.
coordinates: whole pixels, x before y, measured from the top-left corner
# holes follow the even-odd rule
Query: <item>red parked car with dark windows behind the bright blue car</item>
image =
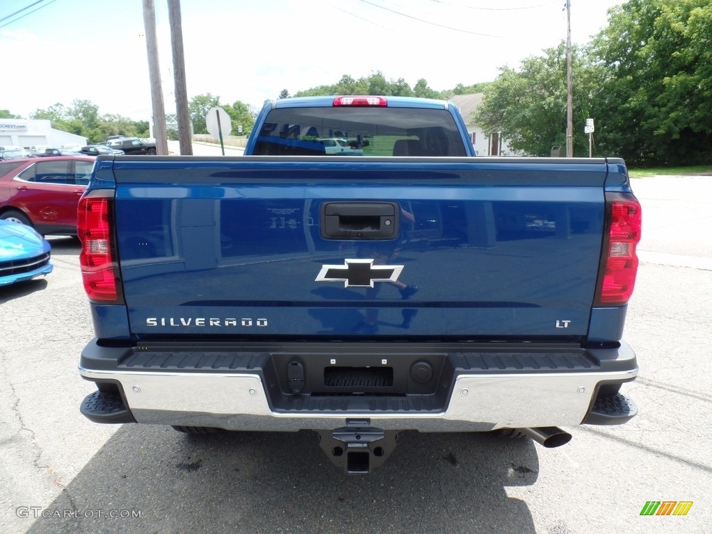
[(40, 234), (77, 233), (77, 204), (94, 159), (58, 156), (0, 161), (0, 219)]

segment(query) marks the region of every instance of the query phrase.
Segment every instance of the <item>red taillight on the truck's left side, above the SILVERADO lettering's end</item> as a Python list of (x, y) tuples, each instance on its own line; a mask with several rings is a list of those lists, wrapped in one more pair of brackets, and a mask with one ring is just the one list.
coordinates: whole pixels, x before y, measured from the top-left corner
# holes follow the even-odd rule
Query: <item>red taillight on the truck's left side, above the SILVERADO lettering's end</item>
[(77, 229), (84, 290), (96, 303), (123, 302), (110, 225), (113, 192), (97, 189), (79, 201)]

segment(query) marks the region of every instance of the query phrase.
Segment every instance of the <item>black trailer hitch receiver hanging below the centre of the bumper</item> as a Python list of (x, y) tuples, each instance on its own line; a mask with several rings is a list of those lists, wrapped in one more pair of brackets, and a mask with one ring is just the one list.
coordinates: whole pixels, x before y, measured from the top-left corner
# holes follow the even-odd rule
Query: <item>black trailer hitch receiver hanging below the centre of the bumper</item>
[(329, 459), (355, 475), (367, 475), (381, 466), (398, 441), (397, 431), (373, 428), (370, 419), (347, 419), (346, 426), (317, 432), (319, 446)]

